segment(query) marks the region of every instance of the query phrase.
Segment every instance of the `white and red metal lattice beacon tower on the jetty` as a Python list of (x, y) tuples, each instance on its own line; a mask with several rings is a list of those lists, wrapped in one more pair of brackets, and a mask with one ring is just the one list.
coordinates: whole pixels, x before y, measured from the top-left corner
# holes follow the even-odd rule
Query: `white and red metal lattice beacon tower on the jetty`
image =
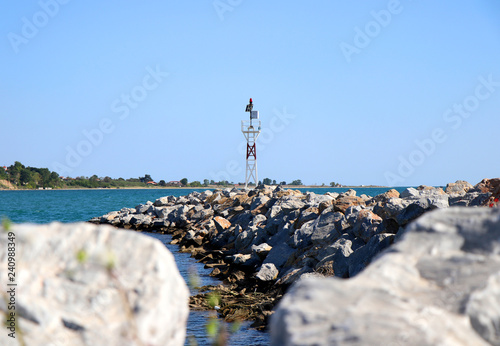
[(260, 120), (259, 111), (253, 110), (252, 99), (247, 105), (245, 112), (250, 113), (250, 120), (241, 121), (241, 132), (247, 140), (247, 169), (245, 174), (245, 187), (248, 187), (248, 183), (253, 180), (255, 185), (258, 184), (257, 177), (257, 148), (255, 146), (255, 141), (260, 135)]

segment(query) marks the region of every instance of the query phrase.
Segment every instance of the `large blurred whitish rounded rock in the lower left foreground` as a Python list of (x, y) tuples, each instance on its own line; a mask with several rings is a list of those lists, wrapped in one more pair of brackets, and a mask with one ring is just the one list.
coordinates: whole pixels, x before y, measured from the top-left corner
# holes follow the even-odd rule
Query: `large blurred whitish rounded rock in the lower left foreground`
[(184, 345), (189, 290), (160, 241), (89, 223), (0, 230), (0, 277), (15, 283), (0, 344)]

